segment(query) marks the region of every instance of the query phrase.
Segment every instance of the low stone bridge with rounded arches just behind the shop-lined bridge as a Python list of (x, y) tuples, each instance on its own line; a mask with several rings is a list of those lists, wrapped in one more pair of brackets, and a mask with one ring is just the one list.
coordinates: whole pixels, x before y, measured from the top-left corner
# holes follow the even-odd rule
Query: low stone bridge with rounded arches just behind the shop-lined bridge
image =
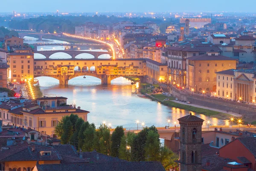
[(88, 53), (94, 56), (95, 59), (98, 59), (98, 56), (103, 54), (109, 54), (110, 56), (113, 55), (113, 52), (96, 52), (96, 51), (82, 51), (82, 50), (44, 50), (44, 51), (36, 51), (35, 53), (40, 53), (46, 57), (46, 59), (49, 59), (49, 57), (58, 52), (67, 53), (70, 56), (72, 56), (72, 59), (75, 59), (77, 55), (82, 53)]

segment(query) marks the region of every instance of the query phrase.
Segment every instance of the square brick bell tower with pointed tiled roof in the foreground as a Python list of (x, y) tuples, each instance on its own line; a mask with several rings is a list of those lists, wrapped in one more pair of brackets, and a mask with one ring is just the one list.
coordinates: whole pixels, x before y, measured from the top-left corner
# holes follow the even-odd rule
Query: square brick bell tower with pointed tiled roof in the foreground
[(202, 125), (204, 120), (190, 115), (180, 123), (180, 171), (201, 171)]

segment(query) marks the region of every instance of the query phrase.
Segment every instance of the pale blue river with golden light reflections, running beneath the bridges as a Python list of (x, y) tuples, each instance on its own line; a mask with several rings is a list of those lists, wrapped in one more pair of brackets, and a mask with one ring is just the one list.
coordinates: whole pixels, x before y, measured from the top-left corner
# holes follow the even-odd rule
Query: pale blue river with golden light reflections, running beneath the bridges
[[(63, 43), (50, 39), (38, 41), (38, 39), (31, 37), (25, 37), (25, 42)], [(38, 46), (38, 50), (63, 49), (63, 46)], [(79, 57), (87, 58), (90, 56), (80, 54)], [(102, 56), (102, 58), (108, 57)], [(44, 58), (44, 56), (35, 53), (36, 58)], [(65, 53), (55, 53), (50, 58), (71, 58), (71, 56)], [(125, 128), (137, 129), (136, 120), (144, 122), (145, 126), (168, 126), (168, 119), (171, 120), (170, 126), (174, 126), (174, 122), (178, 123), (178, 118), (189, 115), (189, 111), (166, 107), (148, 98), (138, 97), (134, 94), (137, 91), (136, 85), (131, 85), (131, 81), (122, 77), (112, 80), (111, 85), (101, 85), (99, 78), (80, 76), (71, 79), (67, 87), (60, 86), (59, 81), (55, 78), (38, 77), (37, 79), (44, 95), (67, 97), (68, 104), (74, 103), (77, 107), (90, 111), (88, 121), (95, 123), (96, 126), (105, 121), (111, 123), (112, 128), (122, 125)], [(225, 121), (217, 118), (207, 118), (204, 115), (197, 116), (205, 121), (210, 119), (211, 125), (225, 124)], [(178, 126), (178, 124), (176, 125)], [(139, 127), (142, 127), (141, 124)]]

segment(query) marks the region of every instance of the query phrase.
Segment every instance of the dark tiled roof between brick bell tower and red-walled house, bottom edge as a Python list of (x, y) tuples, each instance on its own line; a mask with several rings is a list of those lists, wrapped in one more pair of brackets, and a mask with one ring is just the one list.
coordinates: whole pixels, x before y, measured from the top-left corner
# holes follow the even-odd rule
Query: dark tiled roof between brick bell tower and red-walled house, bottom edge
[[(207, 160), (209, 160), (210, 165), (207, 166)], [(221, 171), (223, 166), (229, 162), (235, 162), (236, 160), (226, 159), (219, 157), (219, 155), (211, 155), (202, 157), (202, 169), (207, 171)]]

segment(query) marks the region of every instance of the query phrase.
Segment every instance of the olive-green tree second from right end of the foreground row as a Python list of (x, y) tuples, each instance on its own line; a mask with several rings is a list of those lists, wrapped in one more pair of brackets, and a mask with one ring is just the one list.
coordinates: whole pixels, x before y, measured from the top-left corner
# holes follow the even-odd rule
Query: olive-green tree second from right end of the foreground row
[(160, 145), (159, 134), (149, 130), (144, 147), (145, 158), (148, 158), (149, 161), (158, 161)]

